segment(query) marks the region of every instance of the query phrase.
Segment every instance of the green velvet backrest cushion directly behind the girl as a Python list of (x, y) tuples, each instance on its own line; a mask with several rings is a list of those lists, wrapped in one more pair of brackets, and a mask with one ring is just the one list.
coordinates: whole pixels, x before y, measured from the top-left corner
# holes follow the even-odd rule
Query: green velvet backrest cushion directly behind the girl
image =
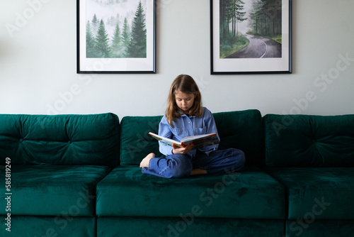
[[(213, 114), (220, 137), (219, 150), (238, 148), (246, 165), (264, 165), (262, 116), (258, 110)], [(121, 121), (121, 165), (139, 165), (149, 153), (159, 153), (159, 143), (148, 133), (158, 133), (162, 116), (127, 116)]]

